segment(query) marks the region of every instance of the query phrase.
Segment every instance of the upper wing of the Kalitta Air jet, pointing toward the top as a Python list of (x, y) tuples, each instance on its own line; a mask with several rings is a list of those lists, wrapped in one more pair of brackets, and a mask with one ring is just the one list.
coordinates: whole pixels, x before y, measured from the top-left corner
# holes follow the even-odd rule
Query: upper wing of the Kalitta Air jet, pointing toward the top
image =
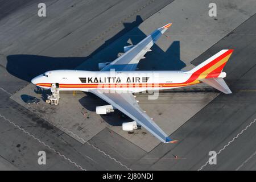
[(122, 56), (119, 56), (112, 63), (101, 69), (101, 71), (110, 71), (110, 69), (115, 69), (115, 71), (134, 71), (137, 68), (139, 60), (143, 59), (148, 51), (151, 51), (150, 48), (154, 45), (156, 40), (158, 40), (171, 25), (171, 23), (168, 23), (156, 29), (137, 45), (130, 48), (129, 51), (126, 51)]

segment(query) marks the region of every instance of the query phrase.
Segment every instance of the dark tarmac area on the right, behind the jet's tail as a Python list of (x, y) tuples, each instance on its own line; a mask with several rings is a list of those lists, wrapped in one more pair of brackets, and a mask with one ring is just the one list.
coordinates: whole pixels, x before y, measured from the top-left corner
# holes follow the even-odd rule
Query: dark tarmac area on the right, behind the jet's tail
[[(179, 143), (160, 144), (134, 169), (255, 170), (255, 25), (253, 15), (192, 61), (197, 65), (220, 49), (234, 49), (224, 68), (233, 93), (216, 97), (171, 135)], [(216, 165), (208, 164), (209, 151), (217, 152)]]

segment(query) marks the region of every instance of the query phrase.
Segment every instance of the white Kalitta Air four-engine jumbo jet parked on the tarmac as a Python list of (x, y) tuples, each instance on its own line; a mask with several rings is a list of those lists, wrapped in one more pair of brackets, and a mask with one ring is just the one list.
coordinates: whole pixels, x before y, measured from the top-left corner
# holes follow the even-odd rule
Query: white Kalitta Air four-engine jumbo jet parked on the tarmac
[(191, 71), (135, 71), (139, 60), (151, 51), (153, 44), (171, 26), (160, 27), (135, 46), (124, 47), (125, 53), (109, 63), (100, 63), (100, 71), (56, 70), (48, 71), (31, 80), (32, 84), (45, 89), (56, 85), (59, 90), (81, 90), (96, 94), (110, 105), (97, 106), (97, 114), (107, 114), (114, 109), (122, 111), (134, 122), (123, 123), (123, 130), (129, 131), (141, 125), (156, 138), (166, 143), (175, 143), (139, 107), (133, 93), (145, 90), (174, 89), (204, 82), (223, 93), (232, 93), (222, 72), (233, 49), (222, 50)]

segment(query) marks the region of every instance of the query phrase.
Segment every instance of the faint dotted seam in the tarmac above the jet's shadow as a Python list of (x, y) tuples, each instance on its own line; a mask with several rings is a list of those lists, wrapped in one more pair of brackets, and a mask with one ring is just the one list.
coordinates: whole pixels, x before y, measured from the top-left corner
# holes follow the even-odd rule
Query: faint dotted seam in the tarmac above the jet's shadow
[[(150, 2), (146, 3), (146, 5), (143, 5), (141, 6), (139, 9), (135, 10), (132, 14), (126, 16), (126, 18), (123, 18), (120, 22), (118, 23), (115, 23), (113, 26), (110, 26), (110, 28), (108, 28), (108, 30), (104, 31), (104, 34), (108, 33), (110, 30), (112, 30), (113, 28), (117, 27), (119, 24), (121, 24), (123, 21), (127, 20), (128, 18), (130, 18), (131, 16), (133, 16), (134, 14), (137, 14), (139, 13), (139, 11), (141, 11), (142, 9), (144, 9), (146, 6), (150, 5), (152, 2), (154, 2), (155, 0), (151, 0)], [(96, 36), (96, 38), (90, 40), (87, 44), (85, 44), (87, 46), (89, 46), (92, 42), (94, 42), (94, 40), (97, 40), (98, 38), (100, 38), (100, 35), (99, 36)], [(71, 56), (75, 56), (76, 53), (79, 53), (79, 50), (81, 48), (85, 48), (84, 46), (81, 46), (80, 48), (78, 48), (75, 52), (73, 52), (71, 54)]]

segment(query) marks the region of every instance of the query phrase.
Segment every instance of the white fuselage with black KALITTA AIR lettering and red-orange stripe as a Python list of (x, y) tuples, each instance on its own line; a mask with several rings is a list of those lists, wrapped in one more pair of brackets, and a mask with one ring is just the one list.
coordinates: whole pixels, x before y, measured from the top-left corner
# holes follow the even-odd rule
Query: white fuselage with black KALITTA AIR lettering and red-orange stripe
[(144, 90), (173, 89), (198, 84), (200, 81), (184, 71), (48, 71), (31, 82), (50, 89), (56, 84), (60, 90), (114, 89), (142, 92)]

